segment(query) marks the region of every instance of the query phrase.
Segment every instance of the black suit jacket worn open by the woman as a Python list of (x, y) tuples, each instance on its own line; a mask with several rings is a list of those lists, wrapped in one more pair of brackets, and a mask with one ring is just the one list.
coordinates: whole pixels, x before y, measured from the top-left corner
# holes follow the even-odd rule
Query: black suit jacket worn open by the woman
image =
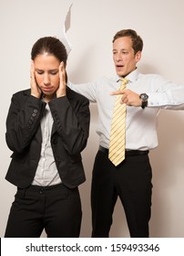
[[(66, 96), (49, 101), (53, 116), (51, 145), (56, 167), (66, 187), (77, 187), (85, 178), (81, 152), (87, 145), (89, 101), (66, 88)], [(16, 92), (6, 119), (6, 143), (14, 152), (5, 178), (16, 187), (31, 185), (40, 158), (42, 135), (40, 120), (46, 102)]]

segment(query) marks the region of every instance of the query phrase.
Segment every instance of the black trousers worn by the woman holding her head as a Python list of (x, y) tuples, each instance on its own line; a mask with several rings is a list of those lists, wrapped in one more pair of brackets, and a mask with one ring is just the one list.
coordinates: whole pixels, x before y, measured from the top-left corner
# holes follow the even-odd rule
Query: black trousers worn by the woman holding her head
[(37, 238), (43, 229), (50, 238), (78, 237), (81, 224), (78, 188), (62, 184), (17, 189), (10, 210), (6, 238)]

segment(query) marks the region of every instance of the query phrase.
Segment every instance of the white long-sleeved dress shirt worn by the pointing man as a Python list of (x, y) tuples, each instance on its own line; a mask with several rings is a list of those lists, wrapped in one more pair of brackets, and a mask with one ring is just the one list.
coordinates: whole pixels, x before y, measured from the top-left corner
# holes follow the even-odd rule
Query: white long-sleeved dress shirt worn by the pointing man
[[(126, 78), (129, 80), (127, 89), (138, 94), (148, 94), (147, 108), (127, 106), (126, 149), (153, 149), (158, 145), (158, 112), (160, 108), (184, 110), (184, 86), (164, 80), (159, 75), (140, 74), (138, 69), (128, 74)], [(117, 97), (110, 95), (110, 92), (118, 91), (119, 77), (102, 78), (83, 84), (69, 82), (68, 86), (86, 96), (89, 101), (97, 102), (99, 144), (108, 148), (113, 107)]]

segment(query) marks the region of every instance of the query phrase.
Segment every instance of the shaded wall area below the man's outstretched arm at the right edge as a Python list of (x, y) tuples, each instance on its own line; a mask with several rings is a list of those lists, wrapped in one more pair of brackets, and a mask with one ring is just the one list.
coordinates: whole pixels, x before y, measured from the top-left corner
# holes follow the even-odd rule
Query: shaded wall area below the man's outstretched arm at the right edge
[(158, 118), (158, 148), (150, 153), (153, 172), (151, 237), (184, 237), (184, 201), (179, 199), (184, 169), (183, 117), (182, 111), (163, 110)]

